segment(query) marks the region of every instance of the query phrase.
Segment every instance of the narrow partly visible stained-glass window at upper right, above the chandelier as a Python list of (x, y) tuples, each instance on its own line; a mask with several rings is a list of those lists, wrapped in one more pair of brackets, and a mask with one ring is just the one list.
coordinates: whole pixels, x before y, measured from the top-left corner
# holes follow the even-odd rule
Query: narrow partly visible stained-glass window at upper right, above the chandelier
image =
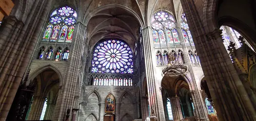
[(182, 34), (183, 34), (183, 38), (184, 38), (185, 43), (193, 44), (194, 42), (193, 42), (192, 34), (191, 34), (191, 31), (189, 30), (185, 14), (181, 15), (180, 27), (182, 29)]

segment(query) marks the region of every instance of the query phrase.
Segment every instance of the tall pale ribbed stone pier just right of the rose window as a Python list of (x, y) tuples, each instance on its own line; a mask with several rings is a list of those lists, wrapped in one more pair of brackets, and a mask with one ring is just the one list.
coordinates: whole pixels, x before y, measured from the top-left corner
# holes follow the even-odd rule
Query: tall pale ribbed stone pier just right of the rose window
[[(157, 119), (156, 116), (158, 116), (158, 107), (157, 103), (157, 97), (156, 97), (156, 89), (155, 89), (155, 78), (154, 78), (154, 70), (153, 70), (153, 62), (152, 62), (152, 53), (151, 50), (152, 47), (150, 45), (151, 40), (150, 39), (150, 27), (146, 27), (143, 29), (143, 52), (145, 57), (145, 70), (146, 70), (146, 78), (147, 78), (147, 88), (148, 88), (148, 97), (149, 97), (149, 112), (150, 112), (150, 119), (154, 120)], [(153, 41), (152, 41), (153, 42)]]

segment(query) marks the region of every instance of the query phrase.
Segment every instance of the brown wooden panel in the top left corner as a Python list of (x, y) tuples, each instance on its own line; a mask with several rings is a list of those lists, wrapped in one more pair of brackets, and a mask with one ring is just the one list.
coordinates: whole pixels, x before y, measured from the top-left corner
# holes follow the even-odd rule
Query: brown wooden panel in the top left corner
[(9, 15), (12, 11), (14, 3), (12, 0), (0, 0), (0, 11), (4, 15)]

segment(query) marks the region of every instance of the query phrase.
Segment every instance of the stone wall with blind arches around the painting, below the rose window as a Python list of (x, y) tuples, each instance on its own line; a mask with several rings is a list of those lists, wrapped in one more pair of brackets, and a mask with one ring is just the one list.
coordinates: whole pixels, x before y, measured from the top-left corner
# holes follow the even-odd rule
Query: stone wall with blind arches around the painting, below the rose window
[[(93, 116), (98, 121), (103, 121), (105, 113), (105, 98), (112, 93), (116, 99), (115, 115), (116, 121), (132, 121), (137, 118), (138, 92), (136, 87), (118, 86), (87, 86), (85, 88), (85, 102), (83, 110), (80, 110), (79, 121), (93, 121)], [(99, 101), (99, 102), (98, 102)], [(100, 105), (100, 106), (99, 106)], [(109, 114), (109, 113), (108, 113)], [(90, 119), (90, 120), (88, 120)]]

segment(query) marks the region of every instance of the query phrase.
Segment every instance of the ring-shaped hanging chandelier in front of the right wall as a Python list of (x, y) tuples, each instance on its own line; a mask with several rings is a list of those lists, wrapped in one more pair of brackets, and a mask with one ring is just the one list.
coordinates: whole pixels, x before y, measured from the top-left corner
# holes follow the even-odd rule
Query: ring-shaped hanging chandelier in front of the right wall
[(180, 76), (186, 73), (188, 70), (187, 66), (183, 64), (179, 64), (176, 61), (176, 56), (174, 55), (173, 52), (170, 52), (168, 54), (168, 66), (165, 67), (162, 72), (166, 76)]

